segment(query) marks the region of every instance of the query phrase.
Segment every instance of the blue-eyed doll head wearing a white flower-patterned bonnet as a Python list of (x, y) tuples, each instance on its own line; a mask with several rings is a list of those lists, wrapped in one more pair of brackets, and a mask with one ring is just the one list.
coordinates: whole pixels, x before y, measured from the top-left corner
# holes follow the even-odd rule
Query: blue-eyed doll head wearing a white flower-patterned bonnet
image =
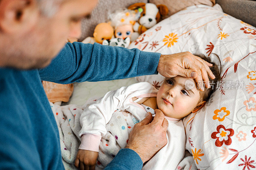
[(126, 37), (131, 38), (133, 33), (132, 26), (138, 17), (138, 12), (127, 9), (119, 9), (110, 14), (108, 18), (111, 21), (111, 25), (115, 28), (115, 37), (122, 39)]

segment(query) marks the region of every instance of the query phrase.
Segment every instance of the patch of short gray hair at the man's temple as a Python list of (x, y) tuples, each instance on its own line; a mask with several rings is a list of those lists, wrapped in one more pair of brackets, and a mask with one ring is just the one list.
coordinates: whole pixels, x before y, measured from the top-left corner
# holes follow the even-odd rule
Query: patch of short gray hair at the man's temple
[(64, 0), (36, 0), (42, 14), (51, 17), (56, 13), (60, 4)]

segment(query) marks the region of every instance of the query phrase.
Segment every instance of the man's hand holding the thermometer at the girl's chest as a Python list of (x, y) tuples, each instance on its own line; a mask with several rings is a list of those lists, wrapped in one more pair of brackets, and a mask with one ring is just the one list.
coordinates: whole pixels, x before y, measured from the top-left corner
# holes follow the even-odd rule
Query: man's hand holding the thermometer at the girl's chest
[(156, 109), (155, 113), (154, 120), (152, 114), (148, 112), (145, 119), (134, 125), (125, 147), (137, 152), (143, 163), (167, 144), (168, 121), (159, 109)]

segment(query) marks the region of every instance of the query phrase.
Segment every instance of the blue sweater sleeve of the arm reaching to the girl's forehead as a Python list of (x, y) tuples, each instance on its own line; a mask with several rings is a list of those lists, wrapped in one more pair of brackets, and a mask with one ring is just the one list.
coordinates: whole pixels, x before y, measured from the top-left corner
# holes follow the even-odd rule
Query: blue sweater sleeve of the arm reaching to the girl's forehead
[(160, 53), (98, 43), (67, 43), (46, 68), (42, 80), (60, 84), (103, 81), (157, 74)]

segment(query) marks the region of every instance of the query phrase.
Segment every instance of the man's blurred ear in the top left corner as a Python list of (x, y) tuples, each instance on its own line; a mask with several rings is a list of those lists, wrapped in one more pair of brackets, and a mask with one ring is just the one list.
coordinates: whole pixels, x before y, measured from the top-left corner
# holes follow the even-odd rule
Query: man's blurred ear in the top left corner
[(28, 32), (38, 15), (36, 0), (0, 1), (0, 29), (6, 33)]

